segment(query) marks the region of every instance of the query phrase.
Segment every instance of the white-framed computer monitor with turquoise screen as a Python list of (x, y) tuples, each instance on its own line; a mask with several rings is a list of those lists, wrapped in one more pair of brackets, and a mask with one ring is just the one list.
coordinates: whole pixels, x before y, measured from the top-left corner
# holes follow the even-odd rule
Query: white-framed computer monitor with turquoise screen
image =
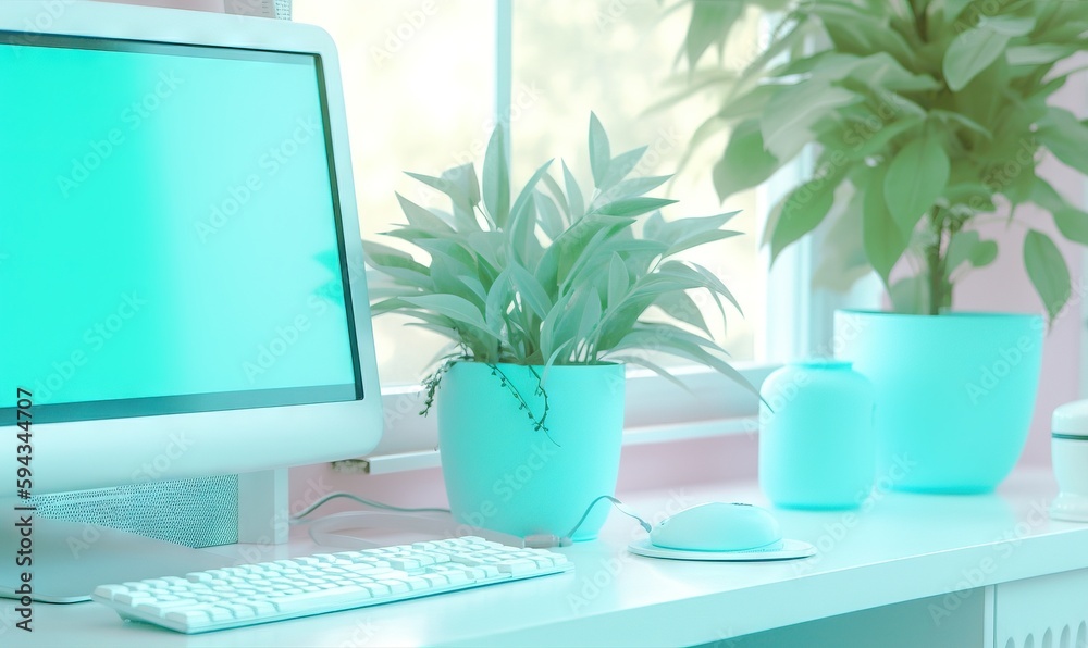
[(371, 450), (357, 217), (321, 29), (0, 2), (0, 506)]

